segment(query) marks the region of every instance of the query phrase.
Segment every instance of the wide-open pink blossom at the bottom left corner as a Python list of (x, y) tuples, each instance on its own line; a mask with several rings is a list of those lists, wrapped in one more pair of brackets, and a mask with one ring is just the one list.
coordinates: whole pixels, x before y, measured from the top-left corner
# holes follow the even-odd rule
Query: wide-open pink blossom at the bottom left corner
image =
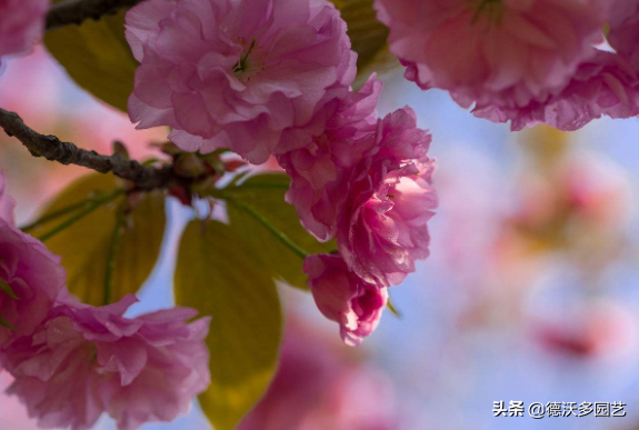
[(16, 379), (8, 392), (40, 426), (86, 430), (107, 411), (120, 430), (133, 430), (174, 419), (208, 387), (209, 318), (187, 324), (197, 311), (183, 308), (122, 317), (136, 300), (61, 303), (0, 354)]

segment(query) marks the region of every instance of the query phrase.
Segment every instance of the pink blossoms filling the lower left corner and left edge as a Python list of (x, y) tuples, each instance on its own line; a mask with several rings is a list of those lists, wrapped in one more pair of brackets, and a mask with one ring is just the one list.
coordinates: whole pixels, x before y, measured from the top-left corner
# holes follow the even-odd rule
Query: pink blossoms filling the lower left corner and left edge
[(170, 421), (210, 382), (209, 318), (192, 309), (124, 318), (133, 296), (100, 308), (66, 289), (60, 259), (13, 224), (0, 174), (0, 368), (8, 393), (46, 428), (90, 429), (103, 412), (120, 430)]

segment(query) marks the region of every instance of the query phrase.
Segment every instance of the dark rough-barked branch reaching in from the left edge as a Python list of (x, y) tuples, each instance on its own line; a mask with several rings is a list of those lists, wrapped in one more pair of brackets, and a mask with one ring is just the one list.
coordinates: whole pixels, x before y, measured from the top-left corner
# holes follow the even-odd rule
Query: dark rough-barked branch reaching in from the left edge
[(21, 141), (34, 157), (44, 157), (49, 161), (62, 164), (82, 166), (100, 173), (113, 172), (122, 179), (132, 181), (138, 189), (169, 188), (182, 182), (170, 167), (161, 169), (144, 167), (121, 153), (101, 156), (96, 151), (78, 148), (73, 143), (62, 142), (54, 136), (40, 134), (29, 128), (17, 113), (1, 108), (0, 127), (7, 134)]

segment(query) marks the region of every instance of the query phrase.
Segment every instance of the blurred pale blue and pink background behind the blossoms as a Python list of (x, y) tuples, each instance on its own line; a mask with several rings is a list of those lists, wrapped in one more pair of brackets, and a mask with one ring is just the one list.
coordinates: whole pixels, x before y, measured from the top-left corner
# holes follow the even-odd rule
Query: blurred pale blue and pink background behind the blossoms
[[(438, 214), (431, 257), (391, 298), (361, 348), (339, 341), (309, 294), (282, 286), (287, 328), (280, 371), (241, 430), (500, 430), (639, 428), (639, 121), (600, 120), (575, 133), (511, 133), (478, 120), (448, 94), (389, 76), (379, 107), (406, 104), (433, 134)], [(166, 130), (136, 131), (42, 50), (4, 62), (0, 106), (36, 130), (133, 157)], [(34, 160), (0, 136), (26, 222), (82, 169)], [(171, 277), (188, 209), (172, 222), (134, 312), (172, 304)], [(214, 316), (213, 316), (214, 317)], [(10, 383), (0, 372), (0, 389)], [(625, 418), (493, 417), (493, 403), (623, 402)], [(0, 430), (33, 430), (0, 397)], [(101, 420), (96, 429), (112, 430)], [(144, 430), (207, 430), (192, 412)]]

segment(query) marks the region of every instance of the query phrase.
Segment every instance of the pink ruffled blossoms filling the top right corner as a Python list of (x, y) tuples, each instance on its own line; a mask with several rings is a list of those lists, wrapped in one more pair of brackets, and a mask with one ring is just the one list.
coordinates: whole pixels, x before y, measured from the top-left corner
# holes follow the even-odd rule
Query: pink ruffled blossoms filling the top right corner
[[(407, 79), (513, 130), (639, 114), (637, 0), (377, 0)], [(603, 27), (609, 27), (605, 44)], [(610, 49), (611, 48), (611, 49)]]

